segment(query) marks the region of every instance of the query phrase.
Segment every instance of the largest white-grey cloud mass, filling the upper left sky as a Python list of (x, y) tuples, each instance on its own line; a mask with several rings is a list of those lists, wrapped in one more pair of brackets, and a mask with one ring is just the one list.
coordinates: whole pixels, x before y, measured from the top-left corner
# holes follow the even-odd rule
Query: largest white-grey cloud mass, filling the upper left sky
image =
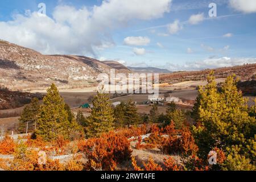
[(97, 48), (113, 44), (111, 32), (131, 20), (161, 18), (172, 0), (104, 0), (100, 6), (76, 9), (57, 6), (49, 16), (37, 12), (15, 15), (0, 22), (0, 38), (46, 54), (96, 55)]

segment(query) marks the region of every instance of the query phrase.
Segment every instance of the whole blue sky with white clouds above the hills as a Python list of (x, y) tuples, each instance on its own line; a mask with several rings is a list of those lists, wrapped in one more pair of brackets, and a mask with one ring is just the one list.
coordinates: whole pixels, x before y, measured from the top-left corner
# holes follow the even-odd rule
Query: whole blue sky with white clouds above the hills
[(230, 67), (256, 63), (256, 1), (1, 0), (0, 39), (130, 67)]

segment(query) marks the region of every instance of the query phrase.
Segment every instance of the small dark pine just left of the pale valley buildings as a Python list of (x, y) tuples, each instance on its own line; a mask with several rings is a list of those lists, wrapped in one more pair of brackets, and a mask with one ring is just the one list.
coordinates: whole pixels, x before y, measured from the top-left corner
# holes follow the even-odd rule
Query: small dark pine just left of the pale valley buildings
[(139, 122), (139, 115), (137, 113), (137, 107), (134, 102), (129, 100), (126, 105), (125, 122), (126, 125), (134, 125)]

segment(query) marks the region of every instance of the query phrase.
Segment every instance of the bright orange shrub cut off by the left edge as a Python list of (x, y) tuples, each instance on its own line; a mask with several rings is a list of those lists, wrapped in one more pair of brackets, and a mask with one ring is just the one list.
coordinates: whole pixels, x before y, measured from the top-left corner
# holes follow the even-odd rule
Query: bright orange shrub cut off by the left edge
[(9, 155), (14, 153), (15, 142), (13, 138), (6, 136), (0, 142), (0, 154)]

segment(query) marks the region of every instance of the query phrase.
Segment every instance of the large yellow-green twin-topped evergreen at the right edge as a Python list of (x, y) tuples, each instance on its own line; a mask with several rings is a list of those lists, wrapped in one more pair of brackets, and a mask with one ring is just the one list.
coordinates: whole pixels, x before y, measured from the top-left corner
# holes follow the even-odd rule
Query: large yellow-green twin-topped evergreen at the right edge
[(193, 127), (202, 157), (213, 147), (226, 152), (224, 169), (235, 169), (248, 161), (255, 166), (255, 117), (250, 117), (246, 100), (236, 84), (235, 76), (229, 76), (218, 92), (211, 73), (208, 84), (199, 89), (199, 119)]

